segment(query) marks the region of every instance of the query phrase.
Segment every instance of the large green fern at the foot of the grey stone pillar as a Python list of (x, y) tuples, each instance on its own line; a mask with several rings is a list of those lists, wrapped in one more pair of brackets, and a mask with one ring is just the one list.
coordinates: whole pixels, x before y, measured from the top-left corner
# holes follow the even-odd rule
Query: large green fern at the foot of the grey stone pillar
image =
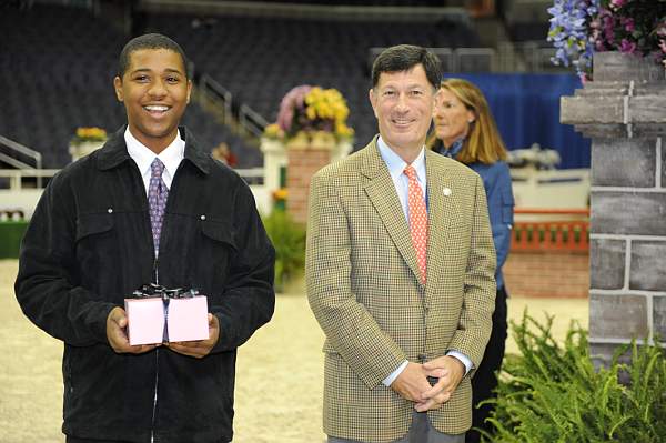
[[(511, 322), (521, 355), (507, 355), (490, 419), (506, 443), (666, 441), (666, 352), (653, 345), (620, 346), (608, 366), (595, 369), (587, 332), (572, 323), (563, 345), (523, 314)], [(627, 356), (630, 363), (624, 363)], [(620, 361), (620, 356), (623, 356)], [(620, 380), (624, 383), (620, 383)]]

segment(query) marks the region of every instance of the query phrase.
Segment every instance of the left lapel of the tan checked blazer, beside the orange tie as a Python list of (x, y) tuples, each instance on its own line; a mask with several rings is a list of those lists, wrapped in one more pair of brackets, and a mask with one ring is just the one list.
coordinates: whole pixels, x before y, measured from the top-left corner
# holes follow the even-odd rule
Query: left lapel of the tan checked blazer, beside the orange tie
[(416, 280), (421, 282), (421, 271), (416, 262), (416, 252), (412, 244), (410, 226), (397, 198), (395, 184), (393, 183), (389, 168), (386, 168), (384, 160), (380, 155), (376, 137), (364, 148), (364, 153), (365, 159), (361, 172), (370, 179), (364, 187), (365, 193), (380, 214), (382, 223), (386, 228), (386, 231), (389, 231), (389, 235), (393, 240), (395, 248), (416, 276)]

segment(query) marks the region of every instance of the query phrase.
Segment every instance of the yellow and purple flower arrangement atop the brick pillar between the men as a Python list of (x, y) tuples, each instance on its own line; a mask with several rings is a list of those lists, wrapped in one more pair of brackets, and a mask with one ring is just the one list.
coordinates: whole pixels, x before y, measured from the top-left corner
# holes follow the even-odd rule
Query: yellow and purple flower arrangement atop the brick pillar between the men
[(339, 90), (304, 84), (284, 95), (278, 121), (264, 129), (264, 137), (291, 140), (303, 135), (312, 138), (324, 132), (339, 141), (346, 140), (354, 134), (354, 130), (346, 124), (349, 115), (350, 109)]

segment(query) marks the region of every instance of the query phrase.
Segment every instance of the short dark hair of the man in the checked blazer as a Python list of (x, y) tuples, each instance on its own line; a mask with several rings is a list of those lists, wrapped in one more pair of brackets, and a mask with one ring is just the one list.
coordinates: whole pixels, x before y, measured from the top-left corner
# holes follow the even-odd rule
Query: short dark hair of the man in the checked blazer
[(442, 80), (441, 61), (425, 48), (413, 44), (398, 44), (383, 50), (372, 63), (372, 87), (380, 82), (382, 72), (408, 71), (416, 64), (422, 64), (425, 77), (434, 89), (440, 88)]

